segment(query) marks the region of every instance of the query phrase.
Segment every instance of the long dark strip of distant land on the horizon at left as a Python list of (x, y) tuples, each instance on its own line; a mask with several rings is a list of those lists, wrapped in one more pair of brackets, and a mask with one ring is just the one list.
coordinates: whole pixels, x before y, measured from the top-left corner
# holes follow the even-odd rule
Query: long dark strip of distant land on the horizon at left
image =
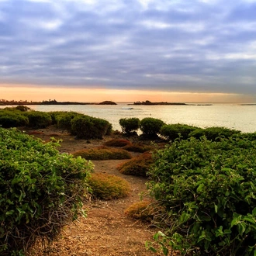
[(0, 99), (0, 106), (19, 106), (19, 105), (117, 105), (116, 102), (112, 101), (104, 101), (100, 103), (95, 103), (95, 102), (57, 102), (56, 99), (49, 99), (47, 101), (43, 102), (33, 102), (33, 101), (15, 101), (15, 100), (5, 100), (5, 99)]

